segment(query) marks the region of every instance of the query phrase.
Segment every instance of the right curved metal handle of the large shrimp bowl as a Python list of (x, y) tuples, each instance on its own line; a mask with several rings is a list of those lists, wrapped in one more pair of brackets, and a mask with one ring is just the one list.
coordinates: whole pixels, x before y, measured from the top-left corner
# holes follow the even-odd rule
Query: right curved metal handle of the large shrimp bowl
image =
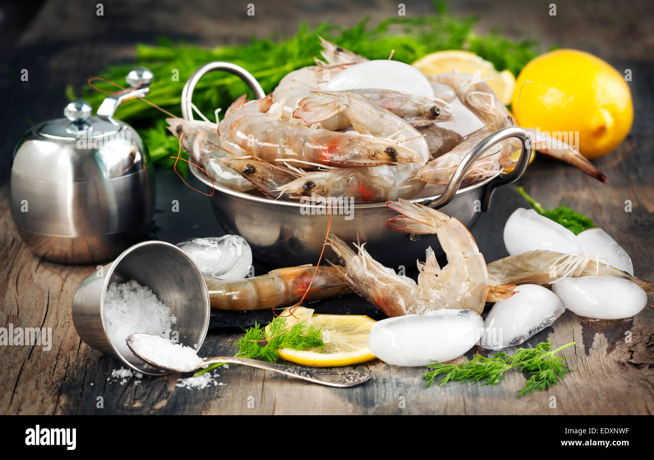
[(462, 162), (460, 162), (454, 171), (449, 184), (447, 184), (447, 188), (445, 188), (445, 192), (443, 192), (443, 194), (441, 194), (441, 196), (438, 198), (434, 198), (434, 200), (429, 202), (428, 206), (433, 207), (434, 209), (438, 209), (439, 207), (443, 207), (447, 203), (451, 202), (456, 192), (458, 191), (458, 188), (461, 186), (464, 177), (466, 177), (468, 170), (472, 167), (472, 164), (477, 161), (486, 152), (486, 150), (490, 149), (490, 147), (496, 145), (498, 142), (508, 139), (509, 137), (517, 137), (520, 139), (522, 142), (522, 151), (520, 152), (520, 158), (513, 171), (508, 174), (499, 174), (494, 179), (492, 179), (492, 181), (485, 185), (482, 198), (483, 201), (481, 203), (481, 211), (488, 211), (490, 207), (490, 199), (492, 198), (495, 189), (500, 185), (517, 181), (517, 179), (523, 175), (529, 164), (531, 149), (530, 142), (528, 141), (528, 134), (526, 130), (519, 128), (518, 126), (502, 128), (501, 130), (492, 133), (489, 135), (489, 137), (475, 145), (475, 147), (470, 150), (470, 152), (468, 152), (466, 157), (462, 160)]

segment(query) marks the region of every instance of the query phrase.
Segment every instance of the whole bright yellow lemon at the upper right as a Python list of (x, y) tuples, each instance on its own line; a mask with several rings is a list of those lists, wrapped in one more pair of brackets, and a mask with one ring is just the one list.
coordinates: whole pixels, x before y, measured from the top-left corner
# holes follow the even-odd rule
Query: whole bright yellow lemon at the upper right
[[(523, 86), (526, 80), (532, 83)], [(610, 152), (625, 139), (634, 120), (623, 75), (578, 50), (551, 51), (530, 61), (518, 75), (511, 107), (517, 110), (516, 124), (523, 128), (553, 137), (568, 133), (571, 144), (575, 137), (570, 136), (578, 132), (579, 152), (586, 158)]]

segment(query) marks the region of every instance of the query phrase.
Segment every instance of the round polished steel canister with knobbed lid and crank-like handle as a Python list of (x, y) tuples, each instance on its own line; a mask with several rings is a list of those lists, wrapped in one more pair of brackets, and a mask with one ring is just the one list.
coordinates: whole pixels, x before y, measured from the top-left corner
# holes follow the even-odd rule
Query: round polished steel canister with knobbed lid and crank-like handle
[(53, 262), (88, 264), (118, 256), (146, 235), (154, 209), (154, 171), (141, 137), (113, 118), (124, 101), (145, 96), (152, 73), (128, 74), (92, 116), (85, 101), (65, 118), (31, 128), (14, 150), (10, 210), (23, 241)]

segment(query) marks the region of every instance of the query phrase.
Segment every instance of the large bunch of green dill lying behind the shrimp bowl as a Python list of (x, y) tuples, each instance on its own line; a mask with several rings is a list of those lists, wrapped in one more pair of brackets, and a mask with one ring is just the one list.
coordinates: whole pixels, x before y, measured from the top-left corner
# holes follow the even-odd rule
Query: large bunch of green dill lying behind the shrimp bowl
[[(377, 26), (371, 26), (368, 19), (353, 27), (321, 22), (311, 28), (303, 23), (292, 37), (252, 37), (247, 44), (202, 48), (162, 38), (155, 46), (138, 44), (136, 61), (137, 65), (148, 67), (154, 75), (148, 101), (179, 115), (184, 82), (199, 65), (211, 61), (233, 62), (252, 73), (268, 93), (287, 73), (313, 65), (313, 58), (320, 56), (318, 35), (370, 59), (387, 59), (394, 52), (393, 60), (405, 63), (414, 62), (431, 52), (470, 50), (492, 62), (498, 71), (508, 69), (513, 75), (518, 75), (526, 63), (538, 56), (536, 41), (512, 41), (496, 32), (477, 35), (473, 31), (476, 21), (477, 18), (472, 16), (455, 16), (447, 12), (445, 3), (434, 1), (434, 14), (395, 16)], [(110, 65), (99, 76), (120, 84), (133, 66), (133, 63)], [(108, 86), (107, 89), (115, 88)], [(80, 92), (69, 86), (66, 95), (71, 100), (82, 96), (95, 109), (106, 96), (87, 86)], [(221, 108), (224, 113), (236, 97), (246, 92), (252, 97), (239, 77), (212, 72), (198, 82), (194, 103), (202, 113), (213, 118), (215, 109)], [(116, 118), (128, 122), (139, 132), (157, 164), (172, 165), (169, 156), (176, 156), (179, 147), (177, 139), (167, 135), (162, 113), (135, 101), (120, 105)], [(178, 170), (185, 171), (186, 163), (178, 162), (177, 166)]]

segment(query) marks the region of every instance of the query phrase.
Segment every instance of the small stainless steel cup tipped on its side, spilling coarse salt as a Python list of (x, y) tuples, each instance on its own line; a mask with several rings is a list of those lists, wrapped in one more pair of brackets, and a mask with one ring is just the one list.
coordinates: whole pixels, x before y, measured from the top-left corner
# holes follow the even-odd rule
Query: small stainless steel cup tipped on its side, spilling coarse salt
[[(209, 329), (209, 294), (195, 262), (179, 247), (163, 241), (133, 245), (116, 260), (82, 279), (73, 296), (73, 324), (92, 348), (114, 355), (127, 366), (150, 376), (169, 374), (129, 353), (120, 353), (105, 325), (105, 292), (111, 283), (135, 279), (170, 307), (177, 322), (173, 330), (181, 344), (196, 350)], [(143, 332), (135, 330), (134, 332)]]

